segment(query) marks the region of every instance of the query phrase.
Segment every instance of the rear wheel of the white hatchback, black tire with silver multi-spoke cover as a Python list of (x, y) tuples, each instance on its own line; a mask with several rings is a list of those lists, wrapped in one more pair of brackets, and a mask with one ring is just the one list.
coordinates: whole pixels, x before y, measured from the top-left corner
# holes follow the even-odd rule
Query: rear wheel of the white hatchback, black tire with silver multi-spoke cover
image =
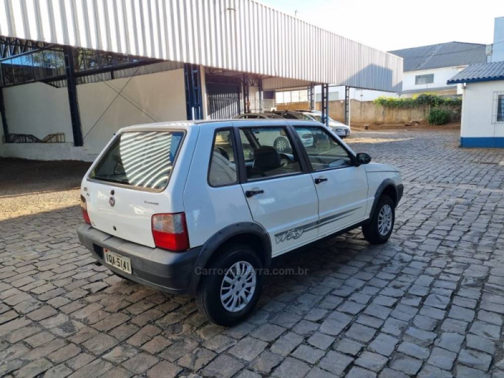
[[(245, 273), (241, 276), (235, 274), (237, 268)], [(256, 251), (247, 245), (232, 244), (218, 251), (216, 258), (202, 271), (204, 275), (196, 292), (199, 310), (219, 326), (229, 327), (240, 323), (257, 305), (263, 286), (262, 268), (263, 264)], [(254, 289), (250, 290), (253, 281)], [(245, 284), (250, 287), (245, 287)], [(236, 291), (233, 293), (233, 290), (239, 290), (238, 285), (242, 285), (242, 296), (236, 295)], [(236, 305), (233, 309), (235, 298)]]

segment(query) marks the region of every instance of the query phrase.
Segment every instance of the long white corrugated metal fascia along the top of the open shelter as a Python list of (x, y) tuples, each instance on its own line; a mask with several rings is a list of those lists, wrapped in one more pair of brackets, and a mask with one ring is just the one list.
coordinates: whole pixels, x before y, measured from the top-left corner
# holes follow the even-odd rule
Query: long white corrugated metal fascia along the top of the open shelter
[(0, 35), (400, 91), (402, 59), (254, 0), (0, 0)]

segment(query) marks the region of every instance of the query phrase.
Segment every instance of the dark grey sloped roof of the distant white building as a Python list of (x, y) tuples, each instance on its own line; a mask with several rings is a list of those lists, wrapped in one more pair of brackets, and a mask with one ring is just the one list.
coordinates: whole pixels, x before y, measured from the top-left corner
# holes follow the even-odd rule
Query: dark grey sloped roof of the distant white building
[(404, 72), (408, 72), (484, 63), (485, 49), (479, 43), (448, 42), (389, 52), (404, 59)]

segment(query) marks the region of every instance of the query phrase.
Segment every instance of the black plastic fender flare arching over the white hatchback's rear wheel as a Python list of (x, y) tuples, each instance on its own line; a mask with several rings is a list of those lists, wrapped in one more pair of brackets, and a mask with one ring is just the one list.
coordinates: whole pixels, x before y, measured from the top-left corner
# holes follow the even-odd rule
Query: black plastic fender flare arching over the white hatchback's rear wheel
[(264, 248), (264, 267), (267, 268), (271, 265), (271, 240), (264, 227), (256, 222), (238, 222), (230, 224), (220, 231), (217, 231), (205, 242), (205, 244), (203, 244), (200, 255), (194, 265), (193, 277), (191, 279), (191, 291), (196, 291), (201, 278), (201, 269), (205, 268), (219, 246), (233, 236), (245, 233), (254, 234), (260, 238)]

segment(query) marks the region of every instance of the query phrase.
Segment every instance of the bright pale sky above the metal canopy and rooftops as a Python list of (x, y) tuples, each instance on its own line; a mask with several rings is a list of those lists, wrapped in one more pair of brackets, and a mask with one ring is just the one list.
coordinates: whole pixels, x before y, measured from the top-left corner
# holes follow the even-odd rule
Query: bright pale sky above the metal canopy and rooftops
[(258, 0), (384, 51), (459, 41), (489, 44), (504, 0)]

